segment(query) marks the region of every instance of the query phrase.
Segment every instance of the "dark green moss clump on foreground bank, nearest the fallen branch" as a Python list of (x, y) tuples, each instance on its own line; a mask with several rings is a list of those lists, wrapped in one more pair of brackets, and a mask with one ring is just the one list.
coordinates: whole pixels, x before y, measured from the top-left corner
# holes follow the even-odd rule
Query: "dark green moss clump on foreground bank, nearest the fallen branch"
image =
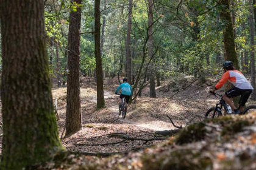
[(177, 144), (191, 143), (204, 139), (205, 125), (203, 123), (195, 123), (185, 127), (179, 132), (175, 141)]

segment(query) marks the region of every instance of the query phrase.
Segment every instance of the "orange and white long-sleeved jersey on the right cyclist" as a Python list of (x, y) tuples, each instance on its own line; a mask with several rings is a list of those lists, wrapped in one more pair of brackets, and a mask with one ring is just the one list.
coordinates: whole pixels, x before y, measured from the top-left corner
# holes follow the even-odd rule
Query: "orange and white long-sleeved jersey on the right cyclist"
[(254, 89), (249, 81), (246, 80), (243, 73), (238, 70), (228, 70), (216, 84), (215, 89), (221, 88), (229, 80), (235, 87), (239, 89)]

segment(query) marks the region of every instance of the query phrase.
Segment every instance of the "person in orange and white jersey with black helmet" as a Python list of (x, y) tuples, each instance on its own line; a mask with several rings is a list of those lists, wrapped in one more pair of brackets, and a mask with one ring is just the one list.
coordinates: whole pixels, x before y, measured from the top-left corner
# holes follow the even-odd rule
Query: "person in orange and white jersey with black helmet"
[[(223, 95), (223, 99), (227, 104), (233, 109), (234, 114), (241, 114), (244, 110), (244, 105), (248, 98), (250, 97), (252, 90), (254, 89), (249, 81), (246, 80), (243, 73), (238, 70), (235, 70), (233, 67), (233, 63), (231, 61), (225, 61), (223, 63), (224, 74), (221, 77), (221, 80), (216, 84), (216, 86), (210, 90), (210, 93), (215, 92), (221, 88), (227, 81), (232, 83), (235, 87), (227, 90), (227, 92)], [(240, 98), (240, 108), (236, 108), (233, 104), (233, 101), (230, 99), (232, 97), (236, 97), (241, 95)]]

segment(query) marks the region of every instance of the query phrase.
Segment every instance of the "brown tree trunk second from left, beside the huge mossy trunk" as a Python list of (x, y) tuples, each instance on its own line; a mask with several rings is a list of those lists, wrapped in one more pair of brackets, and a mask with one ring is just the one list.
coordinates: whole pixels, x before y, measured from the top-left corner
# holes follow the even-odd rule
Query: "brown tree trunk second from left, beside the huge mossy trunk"
[[(74, 0), (73, 4), (82, 4)], [(74, 134), (82, 127), (80, 106), (80, 25), (81, 9), (69, 13), (68, 31), (68, 88), (66, 95), (66, 135)]]

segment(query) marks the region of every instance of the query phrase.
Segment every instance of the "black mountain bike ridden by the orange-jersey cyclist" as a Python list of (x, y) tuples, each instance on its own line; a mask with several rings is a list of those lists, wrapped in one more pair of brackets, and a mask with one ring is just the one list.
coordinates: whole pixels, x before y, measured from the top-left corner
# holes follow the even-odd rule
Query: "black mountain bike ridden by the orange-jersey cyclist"
[[(226, 111), (227, 114), (232, 114), (232, 109), (231, 107), (226, 104), (225, 100), (222, 98), (222, 95), (216, 94), (216, 93), (212, 93), (213, 95), (215, 95), (215, 97), (218, 96), (218, 98), (220, 97), (221, 100), (216, 103), (215, 107), (212, 107), (210, 109), (207, 110), (206, 114), (205, 114), (205, 118), (215, 118), (215, 117), (219, 117), (224, 115), (224, 112)], [(241, 97), (241, 99), (243, 99), (243, 96)], [(240, 99), (240, 101), (242, 101)], [(239, 103), (239, 107), (240, 108), (240, 103)], [(249, 114), (251, 112), (256, 111), (256, 106), (252, 105), (252, 106), (248, 106), (244, 109), (244, 112), (241, 114)]]

